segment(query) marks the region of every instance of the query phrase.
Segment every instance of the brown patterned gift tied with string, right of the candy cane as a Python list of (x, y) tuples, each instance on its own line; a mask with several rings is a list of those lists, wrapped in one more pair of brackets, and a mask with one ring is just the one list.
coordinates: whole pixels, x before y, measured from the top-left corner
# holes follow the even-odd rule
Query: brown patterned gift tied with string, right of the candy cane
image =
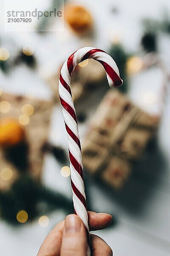
[(117, 90), (109, 90), (96, 110), (85, 141), (85, 169), (114, 188), (123, 186), (132, 164), (141, 158), (159, 118), (150, 116)]

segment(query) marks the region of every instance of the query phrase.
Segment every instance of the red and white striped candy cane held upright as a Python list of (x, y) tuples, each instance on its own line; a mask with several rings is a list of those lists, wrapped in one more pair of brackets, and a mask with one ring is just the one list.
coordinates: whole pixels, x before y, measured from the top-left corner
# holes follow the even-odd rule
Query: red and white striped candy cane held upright
[(70, 87), (71, 73), (77, 64), (88, 58), (93, 58), (103, 65), (110, 87), (118, 87), (123, 81), (119, 77), (119, 70), (113, 58), (111, 58), (105, 51), (93, 47), (84, 47), (71, 54), (63, 64), (59, 76), (59, 98), (68, 135), (68, 153), (70, 159), (74, 212), (82, 219), (85, 228), (89, 233), (83, 181), (82, 152), (79, 140), (77, 116)]

